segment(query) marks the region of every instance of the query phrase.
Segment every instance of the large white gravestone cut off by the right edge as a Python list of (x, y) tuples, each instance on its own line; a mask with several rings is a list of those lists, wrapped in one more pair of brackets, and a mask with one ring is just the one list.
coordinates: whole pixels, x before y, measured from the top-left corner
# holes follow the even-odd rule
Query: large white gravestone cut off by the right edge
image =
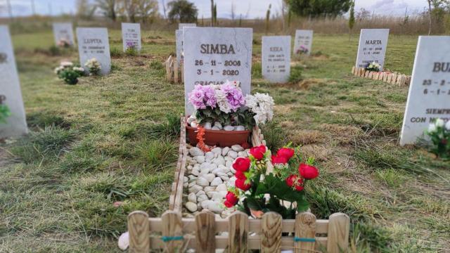
[(420, 36), (400, 145), (415, 143), (430, 123), (450, 120), (450, 36)]

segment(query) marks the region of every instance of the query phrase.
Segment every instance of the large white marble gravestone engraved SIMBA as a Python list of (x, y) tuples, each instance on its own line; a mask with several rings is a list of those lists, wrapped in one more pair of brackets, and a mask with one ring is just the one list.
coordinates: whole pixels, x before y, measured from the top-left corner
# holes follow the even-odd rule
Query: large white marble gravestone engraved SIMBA
[(244, 95), (250, 93), (252, 37), (251, 28), (184, 27), (186, 115), (193, 112), (188, 93), (197, 84), (239, 81)]

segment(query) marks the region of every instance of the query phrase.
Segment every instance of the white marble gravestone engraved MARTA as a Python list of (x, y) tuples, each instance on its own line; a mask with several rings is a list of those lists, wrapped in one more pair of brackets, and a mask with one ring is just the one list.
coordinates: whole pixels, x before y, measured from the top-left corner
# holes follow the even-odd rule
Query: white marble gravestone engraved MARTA
[(375, 62), (383, 70), (388, 37), (389, 29), (361, 29), (356, 67), (367, 67)]

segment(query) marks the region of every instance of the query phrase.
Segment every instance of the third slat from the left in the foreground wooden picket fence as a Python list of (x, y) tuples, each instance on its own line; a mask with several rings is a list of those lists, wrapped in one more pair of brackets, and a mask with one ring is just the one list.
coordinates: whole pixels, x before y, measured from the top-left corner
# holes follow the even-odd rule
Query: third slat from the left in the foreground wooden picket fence
[(216, 252), (216, 222), (209, 211), (195, 215), (195, 252)]

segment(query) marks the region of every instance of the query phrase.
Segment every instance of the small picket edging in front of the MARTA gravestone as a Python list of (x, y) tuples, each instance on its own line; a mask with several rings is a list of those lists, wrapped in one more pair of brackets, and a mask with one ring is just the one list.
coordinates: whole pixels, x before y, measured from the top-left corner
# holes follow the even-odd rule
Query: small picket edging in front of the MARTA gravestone
[(399, 74), (397, 72), (375, 72), (368, 71), (364, 67), (352, 67), (352, 74), (356, 77), (364, 77), (373, 80), (380, 80), (390, 84), (397, 84), (399, 86), (409, 86), (411, 76), (406, 74)]

